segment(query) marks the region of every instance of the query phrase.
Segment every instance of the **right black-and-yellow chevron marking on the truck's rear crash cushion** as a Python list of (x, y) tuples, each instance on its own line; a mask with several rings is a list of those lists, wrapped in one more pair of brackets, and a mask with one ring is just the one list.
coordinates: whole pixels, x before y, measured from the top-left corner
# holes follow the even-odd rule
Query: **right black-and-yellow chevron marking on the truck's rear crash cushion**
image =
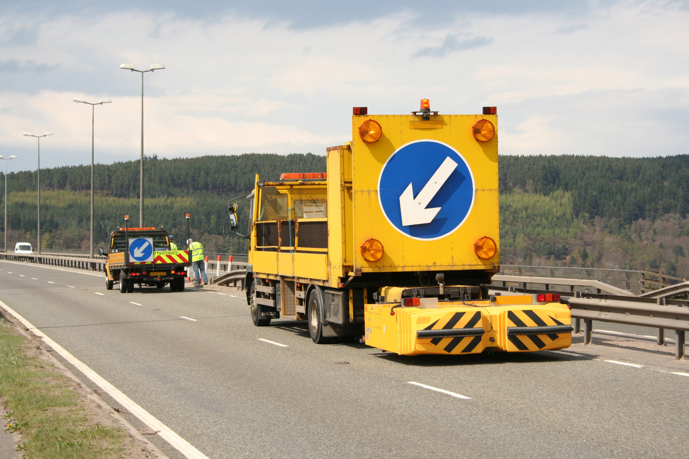
[(533, 310), (508, 311), (507, 319), (514, 326), (511, 327), (508, 324), (507, 339), (520, 351), (528, 350), (528, 346), (522, 339), (528, 339), (538, 349), (543, 349), (547, 344), (539, 337), (548, 337), (551, 341), (555, 341), (559, 338), (559, 333), (568, 333), (574, 330), (571, 325), (565, 325), (549, 314), (544, 315), (550, 319), (551, 324), (548, 324)]

